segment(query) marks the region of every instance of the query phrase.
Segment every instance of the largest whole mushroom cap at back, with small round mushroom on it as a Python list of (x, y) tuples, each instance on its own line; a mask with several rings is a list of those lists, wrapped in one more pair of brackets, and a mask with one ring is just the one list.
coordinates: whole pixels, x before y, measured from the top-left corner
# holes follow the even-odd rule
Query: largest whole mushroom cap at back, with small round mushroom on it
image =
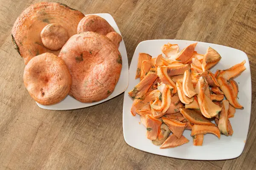
[[(33, 57), (46, 52), (58, 55), (41, 39), (41, 31), (48, 24), (58, 24), (71, 37), (76, 34), (79, 21), (84, 17), (80, 11), (62, 3), (41, 2), (26, 8), (17, 18), (12, 28), (12, 41), (25, 64)], [(56, 50), (56, 49), (53, 49)]]

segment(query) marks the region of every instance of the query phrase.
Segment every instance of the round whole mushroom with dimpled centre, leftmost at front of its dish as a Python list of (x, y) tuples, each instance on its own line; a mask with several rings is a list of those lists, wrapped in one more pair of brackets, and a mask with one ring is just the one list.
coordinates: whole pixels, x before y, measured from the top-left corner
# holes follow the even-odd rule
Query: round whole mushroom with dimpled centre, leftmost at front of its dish
[(65, 62), (52, 53), (33, 57), (25, 67), (23, 79), (30, 96), (42, 105), (64, 99), (72, 82)]

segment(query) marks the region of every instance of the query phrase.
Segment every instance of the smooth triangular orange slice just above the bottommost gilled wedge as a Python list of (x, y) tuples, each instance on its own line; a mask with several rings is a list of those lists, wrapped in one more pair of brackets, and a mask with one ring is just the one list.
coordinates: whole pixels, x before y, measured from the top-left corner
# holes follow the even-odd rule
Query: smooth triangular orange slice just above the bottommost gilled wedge
[(166, 117), (162, 117), (163, 122), (169, 127), (172, 133), (180, 138), (185, 130), (186, 123), (177, 122), (173, 119), (168, 119)]

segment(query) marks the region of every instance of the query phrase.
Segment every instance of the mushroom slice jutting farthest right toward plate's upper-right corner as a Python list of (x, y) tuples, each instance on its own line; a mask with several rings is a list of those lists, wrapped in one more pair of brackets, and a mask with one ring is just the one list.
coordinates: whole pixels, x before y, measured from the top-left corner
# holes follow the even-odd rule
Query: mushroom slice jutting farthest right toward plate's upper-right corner
[(227, 79), (227, 80), (237, 77), (239, 74), (241, 74), (246, 69), (244, 64), (245, 64), (245, 60), (239, 64), (232, 66), (231, 68), (222, 70), (218, 74), (218, 77), (223, 77), (224, 79)]

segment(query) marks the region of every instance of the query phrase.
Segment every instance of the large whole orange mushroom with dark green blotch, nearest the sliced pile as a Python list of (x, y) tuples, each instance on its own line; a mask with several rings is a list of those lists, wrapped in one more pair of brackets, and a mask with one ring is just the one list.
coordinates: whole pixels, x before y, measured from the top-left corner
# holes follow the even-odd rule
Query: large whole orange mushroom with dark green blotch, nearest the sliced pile
[(73, 35), (61, 48), (72, 76), (70, 95), (80, 102), (107, 98), (116, 86), (122, 69), (122, 57), (108, 37), (95, 32)]

